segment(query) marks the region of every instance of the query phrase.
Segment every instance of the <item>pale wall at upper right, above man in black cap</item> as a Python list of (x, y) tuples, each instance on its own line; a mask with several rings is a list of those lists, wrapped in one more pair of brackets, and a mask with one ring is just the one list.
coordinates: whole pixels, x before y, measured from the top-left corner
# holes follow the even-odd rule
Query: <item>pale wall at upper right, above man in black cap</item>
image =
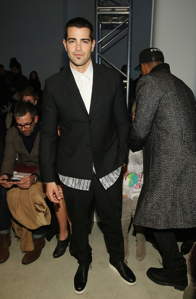
[(196, 94), (196, 0), (154, 0), (152, 47)]

